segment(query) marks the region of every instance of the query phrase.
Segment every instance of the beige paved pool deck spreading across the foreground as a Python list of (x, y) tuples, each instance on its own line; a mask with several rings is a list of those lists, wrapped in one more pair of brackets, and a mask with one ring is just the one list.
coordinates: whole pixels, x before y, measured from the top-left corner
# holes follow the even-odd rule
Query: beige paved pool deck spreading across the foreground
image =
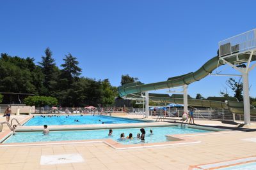
[[(141, 118), (142, 116), (129, 115), (127, 117)], [(17, 118), (22, 121), (26, 117)], [(0, 118), (1, 122), (3, 120), (5, 117)], [(166, 123), (159, 122), (159, 124)], [(215, 120), (196, 120), (196, 124), (209, 127), (237, 127), (237, 124)], [(253, 131), (254, 129), (246, 131), (245, 128), (236, 129), (242, 131), (189, 136), (189, 139), (200, 141), (200, 143), (129, 150), (116, 150), (104, 143), (4, 146), (0, 147), (0, 169), (189, 169), (196, 165), (255, 156), (256, 131)], [(4, 132), (7, 131), (8, 127), (4, 125)], [(79, 154), (84, 162), (41, 164), (42, 156), (56, 155), (64, 161), (67, 154)]]

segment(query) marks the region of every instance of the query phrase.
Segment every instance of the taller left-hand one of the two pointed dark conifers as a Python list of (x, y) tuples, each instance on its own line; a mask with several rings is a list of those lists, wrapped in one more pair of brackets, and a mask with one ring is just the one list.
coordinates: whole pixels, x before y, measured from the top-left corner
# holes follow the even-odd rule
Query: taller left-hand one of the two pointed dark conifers
[(39, 62), (42, 72), (44, 73), (44, 89), (42, 93), (45, 95), (52, 94), (57, 85), (57, 77), (59, 69), (56, 67), (54, 59), (52, 58), (52, 51), (49, 47), (45, 49), (45, 56), (42, 56), (42, 62)]

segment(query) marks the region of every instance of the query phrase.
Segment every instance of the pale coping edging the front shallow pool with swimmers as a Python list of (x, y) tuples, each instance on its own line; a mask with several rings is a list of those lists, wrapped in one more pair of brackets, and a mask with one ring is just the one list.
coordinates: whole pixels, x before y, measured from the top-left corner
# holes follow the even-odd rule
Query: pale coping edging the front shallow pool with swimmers
[[(162, 127), (166, 125), (162, 125)], [(169, 126), (176, 126), (175, 124)], [(152, 127), (152, 126), (148, 126)], [(155, 126), (155, 127), (159, 127)], [(189, 128), (195, 127), (195, 125), (188, 125)], [(118, 128), (118, 127), (116, 127)], [(127, 128), (127, 127), (126, 127)], [(131, 128), (131, 127), (129, 127)], [(198, 128), (199, 129), (199, 128)], [(200, 127), (200, 129), (216, 129), (216, 128), (209, 128), (209, 127)], [(90, 129), (92, 130), (92, 129)], [(89, 140), (73, 140), (73, 141), (47, 141), (47, 142), (33, 142), (33, 143), (0, 143), (1, 146), (36, 146), (36, 145), (63, 145), (63, 144), (77, 144), (77, 143), (104, 143), (111, 148), (116, 150), (125, 150), (125, 149), (133, 149), (133, 148), (149, 148), (149, 147), (158, 147), (158, 146), (172, 146), (172, 145), (185, 145), (185, 144), (196, 144), (201, 143), (199, 140), (192, 139), (190, 137), (193, 136), (206, 136), (206, 135), (214, 135), (214, 134), (227, 134), (232, 132), (239, 132), (239, 131), (213, 131), (213, 132), (204, 132), (204, 133), (194, 133), (194, 134), (174, 134), (174, 135), (166, 135), (166, 138), (172, 139), (173, 141), (166, 141), (162, 143), (138, 143), (138, 144), (131, 144), (131, 145), (124, 145), (122, 143), (118, 143), (113, 139), (89, 139)], [(6, 134), (4, 138), (1, 138), (0, 141), (3, 142), (5, 139), (12, 136), (12, 133)]]

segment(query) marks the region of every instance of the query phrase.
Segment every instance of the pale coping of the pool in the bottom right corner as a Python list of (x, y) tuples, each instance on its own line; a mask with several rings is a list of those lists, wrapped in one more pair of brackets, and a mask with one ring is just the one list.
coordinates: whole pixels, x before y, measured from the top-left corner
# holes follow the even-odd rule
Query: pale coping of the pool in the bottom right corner
[[(234, 162), (234, 163), (232, 163)], [(239, 159), (230, 159), (230, 160), (225, 160), (225, 161), (220, 161), (220, 162), (212, 162), (209, 164), (199, 164), (195, 166), (189, 166), (188, 170), (206, 170), (206, 169), (220, 169), (220, 168), (225, 168), (225, 167), (232, 167), (232, 166), (239, 166), (243, 164), (249, 164), (252, 162), (256, 162), (256, 155), (255, 156), (249, 156), (249, 157), (242, 157)], [(220, 164), (223, 164), (220, 166)]]

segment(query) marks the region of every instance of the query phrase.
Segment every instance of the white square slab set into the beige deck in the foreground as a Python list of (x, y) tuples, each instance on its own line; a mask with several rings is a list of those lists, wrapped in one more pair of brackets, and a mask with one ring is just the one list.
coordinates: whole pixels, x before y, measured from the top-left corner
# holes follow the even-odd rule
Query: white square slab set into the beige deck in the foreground
[(67, 163), (76, 163), (84, 162), (83, 157), (80, 154), (65, 154), (65, 155), (42, 155), (41, 156), (41, 165), (52, 165), (52, 164), (67, 164)]

